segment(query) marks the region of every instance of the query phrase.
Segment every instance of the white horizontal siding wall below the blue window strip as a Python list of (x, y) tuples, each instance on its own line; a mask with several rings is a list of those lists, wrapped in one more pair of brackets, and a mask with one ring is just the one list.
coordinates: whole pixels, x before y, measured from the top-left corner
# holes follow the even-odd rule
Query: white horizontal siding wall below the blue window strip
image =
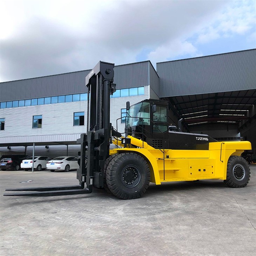
[[(148, 99), (149, 86), (145, 86), (144, 92), (144, 95), (140, 96), (110, 100), (110, 122), (115, 128), (116, 119), (121, 117), (121, 108), (126, 108), (126, 101), (130, 101), (133, 105)], [(74, 112), (82, 111), (85, 112), (85, 125), (73, 126)], [(42, 128), (32, 128), (33, 115), (42, 115)], [(0, 109), (0, 118), (5, 118), (5, 130), (0, 131), (0, 137), (13, 137), (12, 140), (15, 141), (12, 142), (29, 142), (22, 136), (31, 136), (31, 142), (38, 142), (45, 141), (45, 138), (40, 137), (41, 135), (47, 135), (49, 141), (63, 141), (65, 139), (63, 136), (66, 135), (67, 141), (70, 141), (70, 134), (75, 134), (76, 137), (77, 134), (86, 132), (86, 115), (87, 101)], [(121, 120), (118, 121), (118, 130), (124, 131), (124, 124), (121, 124)], [(50, 136), (58, 134), (59, 137)], [(75, 137), (74, 140), (76, 140)]]

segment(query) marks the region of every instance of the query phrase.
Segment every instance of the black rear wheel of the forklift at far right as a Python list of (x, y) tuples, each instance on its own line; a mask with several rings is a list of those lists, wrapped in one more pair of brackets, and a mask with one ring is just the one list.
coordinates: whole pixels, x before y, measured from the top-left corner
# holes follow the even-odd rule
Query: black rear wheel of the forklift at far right
[(250, 180), (250, 168), (241, 156), (230, 156), (227, 165), (227, 179), (224, 183), (231, 188), (243, 188)]

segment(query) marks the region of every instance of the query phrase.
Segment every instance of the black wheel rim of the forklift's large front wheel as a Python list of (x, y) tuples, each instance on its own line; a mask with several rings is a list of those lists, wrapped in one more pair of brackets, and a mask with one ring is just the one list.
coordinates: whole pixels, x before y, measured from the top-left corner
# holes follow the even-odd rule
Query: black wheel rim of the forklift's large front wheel
[(121, 171), (121, 181), (124, 186), (127, 188), (134, 188), (139, 184), (141, 180), (141, 172), (140, 170), (132, 165), (129, 164), (128, 166), (124, 167)]

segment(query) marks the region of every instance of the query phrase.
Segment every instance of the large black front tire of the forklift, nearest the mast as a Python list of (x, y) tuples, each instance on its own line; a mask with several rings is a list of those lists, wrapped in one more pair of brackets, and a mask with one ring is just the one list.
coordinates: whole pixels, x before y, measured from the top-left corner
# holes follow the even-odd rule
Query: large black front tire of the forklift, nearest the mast
[(139, 198), (146, 192), (149, 182), (148, 164), (138, 154), (118, 154), (108, 164), (106, 183), (110, 192), (119, 198)]

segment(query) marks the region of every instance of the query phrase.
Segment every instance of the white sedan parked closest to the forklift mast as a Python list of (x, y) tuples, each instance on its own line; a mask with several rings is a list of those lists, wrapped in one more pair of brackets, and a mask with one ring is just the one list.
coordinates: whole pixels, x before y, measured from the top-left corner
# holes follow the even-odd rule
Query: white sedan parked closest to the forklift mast
[(78, 159), (74, 156), (59, 156), (48, 161), (46, 168), (50, 171), (79, 169)]

